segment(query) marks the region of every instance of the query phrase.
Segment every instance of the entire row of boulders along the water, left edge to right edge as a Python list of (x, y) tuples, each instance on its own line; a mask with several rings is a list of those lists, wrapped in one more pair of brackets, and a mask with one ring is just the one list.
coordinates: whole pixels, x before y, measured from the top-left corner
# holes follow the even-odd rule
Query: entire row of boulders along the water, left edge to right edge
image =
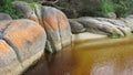
[(0, 74), (19, 75), (44, 52), (57, 53), (72, 43), (72, 35), (92, 32), (123, 38), (133, 32), (133, 18), (105, 19), (82, 17), (68, 19), (60, 10), (23, 1), (12, 2), (27, 19), (12, 20), (0, 13)]

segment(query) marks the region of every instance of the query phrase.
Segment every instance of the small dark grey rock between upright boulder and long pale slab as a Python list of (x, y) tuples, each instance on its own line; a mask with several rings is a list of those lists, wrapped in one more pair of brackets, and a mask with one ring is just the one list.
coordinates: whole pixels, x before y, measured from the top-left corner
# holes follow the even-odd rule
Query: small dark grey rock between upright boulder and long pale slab
[(69, 19), (69, 22), (71, 26), (71, 32), (73, 34), (82, 33), (85, 31), (85, 28), (83, 26), (83, 24), (79, 23), (76, 19)]

